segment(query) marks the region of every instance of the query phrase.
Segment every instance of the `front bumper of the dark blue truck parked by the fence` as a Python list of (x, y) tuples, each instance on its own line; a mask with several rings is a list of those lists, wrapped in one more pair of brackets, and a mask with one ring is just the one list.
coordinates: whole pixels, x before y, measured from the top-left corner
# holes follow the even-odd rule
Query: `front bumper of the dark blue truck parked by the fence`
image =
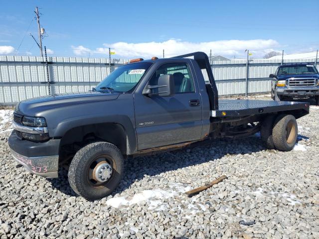
[(277, 87), (276, 93), (279, 96), (292, 96), (292, 97), (319, 96), (319, 86), (317, 87)]

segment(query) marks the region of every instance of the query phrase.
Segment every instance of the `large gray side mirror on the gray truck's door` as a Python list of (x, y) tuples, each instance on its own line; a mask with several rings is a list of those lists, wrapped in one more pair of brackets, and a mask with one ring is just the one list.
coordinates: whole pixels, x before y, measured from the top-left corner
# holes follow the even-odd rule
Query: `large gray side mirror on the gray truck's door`
[[(158, 90), (156, 90), (158, 89)], [(175, 95), (175, 86), (173, 75), (161, 75), (158, 80), (158, 85), (149, 85), (147, 89), (143, 91), (143, 95), (148, 96), (173, 96)]]

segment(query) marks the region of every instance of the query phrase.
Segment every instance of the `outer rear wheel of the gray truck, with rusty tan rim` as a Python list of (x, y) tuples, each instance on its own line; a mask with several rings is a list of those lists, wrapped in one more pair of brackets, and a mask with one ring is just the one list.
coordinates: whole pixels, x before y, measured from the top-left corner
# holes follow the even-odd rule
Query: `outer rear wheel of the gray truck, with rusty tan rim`
[(277, 149), (290, 151), (297, 142), (298, 125), (292, 115), (280, 115), (277, 117), (273, 127), (273, 141)]

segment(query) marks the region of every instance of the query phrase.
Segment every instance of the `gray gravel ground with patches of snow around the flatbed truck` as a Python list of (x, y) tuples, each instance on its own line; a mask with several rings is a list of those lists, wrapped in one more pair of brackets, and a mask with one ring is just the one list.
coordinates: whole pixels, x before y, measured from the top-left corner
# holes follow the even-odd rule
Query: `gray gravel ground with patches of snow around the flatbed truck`
[(72, 192), (65, 170), (46, 180), (17, 168), (12, 111), (0, 113), (0, 239), (319, 238), (319, 107), (298, 119), (291, 152), (265, 149), (256, 134), (138, 157), (117, 191), (94, 202)]

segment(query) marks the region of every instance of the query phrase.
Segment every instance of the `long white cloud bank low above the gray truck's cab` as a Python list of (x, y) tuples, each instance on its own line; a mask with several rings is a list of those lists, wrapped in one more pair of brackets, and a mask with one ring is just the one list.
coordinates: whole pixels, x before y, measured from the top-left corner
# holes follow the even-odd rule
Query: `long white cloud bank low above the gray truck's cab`
[(108, 55), (109, 47), (116, 52), (116, 56), (121, 57), (152, 57), (162, 56), (163, 49), (165, 56), (175, 56), (195, 51), (209, 52), (212, 50), (213, 55), (245, 55), (245, 49), (250, 49), (255, 53), (254, 56), (263, 56), (275, 47), (279, 46), (276, 40), (272, 39), (255, 39), (255, 40), (221, 40), (210, 42), (187, 42), (180, 39), (170, 39), (163, 42), (144, 42), (144, 43), (127, 43), (116, 42), (112, 44), (105, 43), (104, 47), (89, 49), (82, 45), (72, 46), (76, 55), (85, 54), (104, 54)]

